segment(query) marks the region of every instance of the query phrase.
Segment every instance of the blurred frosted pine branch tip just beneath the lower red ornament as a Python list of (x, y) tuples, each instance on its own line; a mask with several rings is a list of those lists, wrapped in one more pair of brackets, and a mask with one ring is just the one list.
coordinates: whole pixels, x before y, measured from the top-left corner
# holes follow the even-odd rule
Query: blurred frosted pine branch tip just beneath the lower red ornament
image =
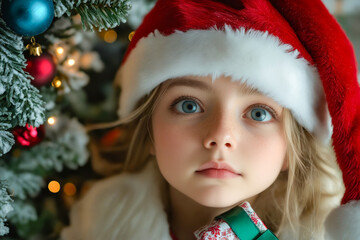
[[(88, 160), (88, 136), (76, 119), (58, 117), (56, 126), (46, 126), (46, 140), (13, 157), (17, 170), (61, 172), (64, 166), (76, 169)], [(28, 159), (31, 159), (29, 161)]]

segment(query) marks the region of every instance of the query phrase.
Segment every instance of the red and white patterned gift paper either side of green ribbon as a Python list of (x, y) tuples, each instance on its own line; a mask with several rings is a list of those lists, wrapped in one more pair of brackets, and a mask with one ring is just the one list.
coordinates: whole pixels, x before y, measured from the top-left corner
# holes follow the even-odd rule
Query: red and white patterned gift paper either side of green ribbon
[[(240, 207), (246, 212), (260, 233), (267, 230), (265, 224), (260, 220), (248, 202), (244, 202)], [(194, 232), (198, 240), (240, 240), (232, 231), (230, 226), (223, 220), (217, 219)]]

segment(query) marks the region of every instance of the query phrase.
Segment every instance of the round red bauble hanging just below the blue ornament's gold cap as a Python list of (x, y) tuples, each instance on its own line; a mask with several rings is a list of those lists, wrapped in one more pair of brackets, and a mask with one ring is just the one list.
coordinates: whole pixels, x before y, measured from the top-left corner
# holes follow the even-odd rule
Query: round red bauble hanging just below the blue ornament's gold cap
[(26, 58), (25, 71), (34, 77), (31, 83), (35, 87), (44, 86), (53, 80), (56, 74), (56, 65), (49, 53), (43, 53), (41, 56), (27, 56)]

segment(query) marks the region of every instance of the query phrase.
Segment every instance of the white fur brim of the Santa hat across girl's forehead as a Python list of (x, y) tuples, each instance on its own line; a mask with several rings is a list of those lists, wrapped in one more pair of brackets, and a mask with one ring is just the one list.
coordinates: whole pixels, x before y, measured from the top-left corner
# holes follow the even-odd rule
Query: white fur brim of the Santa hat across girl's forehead
[(317, 70), (290, 45), (255, 30), (189, 30), (169, 36), (157, 30), (141, 39), (120, 68), (119, 114), (160, 83), (186, 75), (231, 76), (290, 109), (297, 121), (328, 141), (331, 120)]

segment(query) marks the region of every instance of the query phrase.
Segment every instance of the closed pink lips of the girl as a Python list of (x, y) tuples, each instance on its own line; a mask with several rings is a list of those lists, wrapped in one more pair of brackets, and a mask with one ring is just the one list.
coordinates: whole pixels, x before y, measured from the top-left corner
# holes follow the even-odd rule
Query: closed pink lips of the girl
[(210, 178), (234, 178), (241, 176), (229, 164), (222, 162), (207, 162), (200, 166), (196, 173)]

